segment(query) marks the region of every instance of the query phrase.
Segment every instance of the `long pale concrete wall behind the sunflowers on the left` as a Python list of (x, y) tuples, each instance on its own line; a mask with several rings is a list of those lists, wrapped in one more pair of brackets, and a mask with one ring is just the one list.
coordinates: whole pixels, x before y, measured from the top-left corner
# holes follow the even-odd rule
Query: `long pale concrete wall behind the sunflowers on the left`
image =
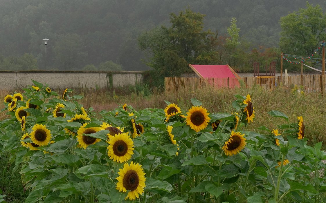
[(0, 71), (0, 89), (24, 88), (32, 80), (50, 88), (123, 87), (142, 82), (143, 71)]

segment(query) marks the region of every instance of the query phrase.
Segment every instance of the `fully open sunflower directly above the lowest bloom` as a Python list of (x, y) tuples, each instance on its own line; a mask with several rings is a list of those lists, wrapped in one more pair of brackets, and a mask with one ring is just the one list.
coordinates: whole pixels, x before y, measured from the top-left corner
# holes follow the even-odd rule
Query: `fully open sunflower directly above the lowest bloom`
[(108, 156), (110, 159), (113, 159), (113, 161), (118, 163), (128, 161), (131, 158), (131, 155), (134, 153), (134, 142), (128, 136), (128, 133), (119, 133), (112, 136), (108, 143)]

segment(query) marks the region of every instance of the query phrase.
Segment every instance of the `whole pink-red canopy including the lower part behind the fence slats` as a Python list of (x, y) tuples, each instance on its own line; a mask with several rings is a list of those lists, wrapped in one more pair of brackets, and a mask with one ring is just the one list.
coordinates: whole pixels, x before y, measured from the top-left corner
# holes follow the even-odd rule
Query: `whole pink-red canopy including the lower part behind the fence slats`
[(225, 80), (212, 80), (209, 83), (214, 83), (218, 87), (235, 87), (240, 86), (239, 81), (241, 78), (232, 70), (229, 65), (192, 65), (189, 64), (191, 69), (200, 78), (220, 78)]

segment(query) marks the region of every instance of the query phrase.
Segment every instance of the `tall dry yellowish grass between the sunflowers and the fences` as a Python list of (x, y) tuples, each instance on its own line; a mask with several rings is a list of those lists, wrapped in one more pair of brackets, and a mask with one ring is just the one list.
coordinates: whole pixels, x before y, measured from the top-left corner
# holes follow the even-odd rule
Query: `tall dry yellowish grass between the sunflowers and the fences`
[[(61, 90), (57, 90), (61, 95)], [(293, 91), (292, 91), (293, 92)], [(303, 116), (305, 123), (305, 136), (309, 138), (310, 144), (324, 141), (326, 143), (326, 110), (324, 105), (326, 97), (322, 97), (318, 93), (300, 94), (292, 93), (290, 89), (277, 88), (274, 91), (264, 90), (259, 86), (251, 89), (215, 89), (212, 87), (204, 87), (195, 91), (179, 91), (179, 92), (163, 92), (154, 91), (149, 96), (145, 96), (141, 92), (115, 91), (113, 90), (76, 90), (73, 94), (82, 94), (84, 98), (80, 103), (86, 109), (92, 107), (96, 112), (101, 110), (113, 110), (120, 105), (126, 103), (131, 105), (135, 110), (145, 108), (165, 108), (164, 100), (176, 103), (181, 109), (187, 111), (192, 104), (191, 98), (197, 98), (207, 108), (209, 112), (232, 112), (232, 101), (235, 94), (250, 94), (253, 105), (255, 107), (255, 120), (250, 123), (246, 129), (257, 130), (258, 127), (264, 125), (269, 129), (276, 128), (277, 125), (284, 124), (281, 118), (274, 118), (267, 114), (268, 111), (278, 110), (289, 117), (289, 122), (297, 122), (297, 116)], [(12, 92), (1, 90), (0, 98), (4, 98)], [(117, 95), (117, 97), (115, 96)], [(1, 102), (1, 109), (4, 108)], [(5, 112), (0, 112), (0, 120), (7, 118)]]

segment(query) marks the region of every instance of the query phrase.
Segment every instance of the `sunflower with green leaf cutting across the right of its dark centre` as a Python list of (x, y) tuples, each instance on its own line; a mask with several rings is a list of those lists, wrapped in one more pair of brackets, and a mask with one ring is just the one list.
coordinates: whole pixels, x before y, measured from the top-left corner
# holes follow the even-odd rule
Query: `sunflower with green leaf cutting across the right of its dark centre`
[[(92, 138), (87, 136), (87, 134), (96, 133), (99, 131), (98, 127), (85, 128), (87, 123), (84, 123), (77, 131), (77, 141), (82, 148), (86, 149), (88, 145), (95, 144), (96, 142), (101, 141), (99, 138)], [(86, 134), (86, 135), (85, 135)]]

